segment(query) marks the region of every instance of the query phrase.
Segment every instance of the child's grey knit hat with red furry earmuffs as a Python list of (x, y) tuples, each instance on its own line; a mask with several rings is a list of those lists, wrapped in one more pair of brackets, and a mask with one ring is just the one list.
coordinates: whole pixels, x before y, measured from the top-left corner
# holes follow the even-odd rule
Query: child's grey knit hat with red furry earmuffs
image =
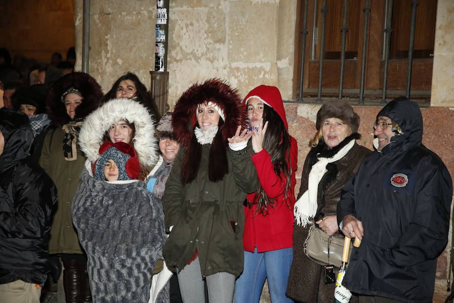
[(134, 148), (124, 142), (105, 142), (99, 147), (98, 160), (93, 165), (95, 179), (105, 181), (104, 165), (113, 160), (118, 166), (118, 180), (131, 180), (139, 175), (140, 164)]

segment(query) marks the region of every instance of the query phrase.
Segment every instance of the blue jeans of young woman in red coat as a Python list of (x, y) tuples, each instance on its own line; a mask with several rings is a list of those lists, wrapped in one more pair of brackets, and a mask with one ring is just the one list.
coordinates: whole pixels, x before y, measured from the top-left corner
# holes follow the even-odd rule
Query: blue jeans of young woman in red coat
[(273, 303), (293, 302), (286, 297), (293, 247), (265, 252), (244, 252), (244, 270), (235, 283), (235, 303), (258, 303), (265, 279)]

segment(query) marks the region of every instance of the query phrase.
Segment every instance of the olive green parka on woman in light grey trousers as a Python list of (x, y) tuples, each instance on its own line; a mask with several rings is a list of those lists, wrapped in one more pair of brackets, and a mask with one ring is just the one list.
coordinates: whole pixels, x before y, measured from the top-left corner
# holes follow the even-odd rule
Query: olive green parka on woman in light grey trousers
[(194, 181), (182, 186), (180, 169), (185, 153), (180, 148), (165, 184), (163, 207), (165, 227), (173, 226), (163, 249), (167, 266), (181, 271), (196, 248), (202, 275), (243, 271), (243, 201), (257, 188), (257, 172), (250, 145), (227, 151), (229, 173), (219, 182), (208, 180), (211, 144), (202, 146), (200, 168)]

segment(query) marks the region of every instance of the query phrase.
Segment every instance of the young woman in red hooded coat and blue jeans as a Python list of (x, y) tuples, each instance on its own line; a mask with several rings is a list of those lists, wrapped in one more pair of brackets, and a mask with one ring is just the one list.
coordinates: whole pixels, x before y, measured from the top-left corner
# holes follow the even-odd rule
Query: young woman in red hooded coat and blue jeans
[(289, 135), (277, 87), (260, 85), (243, 102), (260, 184), (244, 203), (244, 270), (235, 285), (235, 303), (259, 302), (266, 278), (273, 303), (292, 302), (285, 293), (293, 260), (297, 142)]

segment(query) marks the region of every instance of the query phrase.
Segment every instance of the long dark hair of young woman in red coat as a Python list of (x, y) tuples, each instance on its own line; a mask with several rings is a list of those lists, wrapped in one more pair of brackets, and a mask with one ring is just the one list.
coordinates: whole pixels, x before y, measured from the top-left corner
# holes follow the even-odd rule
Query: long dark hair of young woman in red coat
[[(290, 166), (291, 137), (276, 111), (264, 104), (263, 124), (266, 121), (268, 121), (268, 128), (266, 129), (265, 138), (263, 140), (263, 148), (268, 151), (268, 154), (271, 157), (274, 172), (279, 177), (280, 181), (286, 184), (284, 200), (286, 201), (287, 207), (290, 208), (291, 205), (288, 197), (292, 177), (292, 167)], [(268, 209), (274, 207), (276, 198), (270, 198), (259, 183), (254, 200), (258, 202), (256, 215), (262, 214), (266, 216), (268, 214)]]

